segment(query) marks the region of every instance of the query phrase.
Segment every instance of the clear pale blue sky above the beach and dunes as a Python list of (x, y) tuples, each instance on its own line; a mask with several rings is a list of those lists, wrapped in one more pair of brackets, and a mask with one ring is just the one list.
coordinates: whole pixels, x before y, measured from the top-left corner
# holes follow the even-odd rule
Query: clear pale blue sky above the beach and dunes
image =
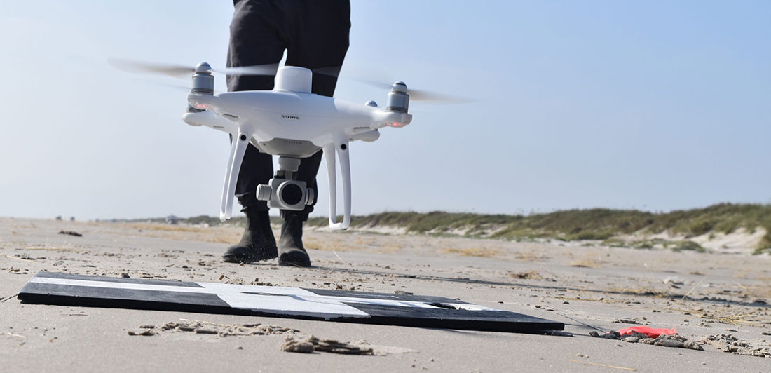
[[(232, 10), (0, 0), (0, 216), (216, 216), (227, 135), (185, 125), (185, 93), (152, 84), (187, 81), (106, 59), (224, 66)], [(474, 100), (413, 103), (412, 125), (352, 144), (354, 213), (771, 203), (769, 15), (766, 1), (353, 1), (343, 77)], [(335, 96), (385, 95), (341, 79)], [(323, 197), (323, 165), (319, 183)]]

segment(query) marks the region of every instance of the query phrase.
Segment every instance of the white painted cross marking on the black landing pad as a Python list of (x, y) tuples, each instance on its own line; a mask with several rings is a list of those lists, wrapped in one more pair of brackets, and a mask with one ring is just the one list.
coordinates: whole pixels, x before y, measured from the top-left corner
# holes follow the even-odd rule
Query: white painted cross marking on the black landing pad
[[(316, 318), (367, 318), (369, 314), (345, 303), (375, 304), (395, 307), (441, 308), (419, 301), (400, 301), (360, 297), (317, 295), (298, 287), (277, 287), (198, 282), (201, 287), (175, 285), (132, 284), (126, 282), (75, 280), (52, 277), (33, 277), (29, 282), (75, 287), (100, 287), (137, 291), (172, 291), (179, 293), (215, 294), (233, 308), (254, 311), (273, 311), (276, 314), (304, 315)], [(246, 294), (256, 293), (256, 294)], [(500, 311), (476, 304), (451, 304), (451, 307), (469, 311)]]

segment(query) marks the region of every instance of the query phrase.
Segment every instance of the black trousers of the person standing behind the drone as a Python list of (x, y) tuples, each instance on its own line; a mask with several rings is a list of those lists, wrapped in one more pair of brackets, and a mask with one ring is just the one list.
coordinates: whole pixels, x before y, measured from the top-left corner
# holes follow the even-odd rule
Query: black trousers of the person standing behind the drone
[[(348, 51), (351, 29), (351, 5), (348, 0), (235, 0), (231, 22), (231, 40), (227, 66), (251, 66), (278, 63), (287, 52), (286, 65), (320, 69), (342, 66)], [(273, 76), (228, 76), (229, 91), (273, 89)], [(311, 92), (322, 96), (335, 93), (337, 78), (314, 74)], [(301, 160), (296, 180), (305, 181), (318, 196), (316, 173), (322, 151)], [(259, 184), (273, 176), (270, 154), (247, 147), (238, 173), (236, 195), (239, 203), (254, 210), (268, 210), (258, 201)], [(314, 201), (315, 204), (315, 201)], [(300, 213), (303, 219), (313, 206)], [(281, 211), (283, 215), (288, 211)]]

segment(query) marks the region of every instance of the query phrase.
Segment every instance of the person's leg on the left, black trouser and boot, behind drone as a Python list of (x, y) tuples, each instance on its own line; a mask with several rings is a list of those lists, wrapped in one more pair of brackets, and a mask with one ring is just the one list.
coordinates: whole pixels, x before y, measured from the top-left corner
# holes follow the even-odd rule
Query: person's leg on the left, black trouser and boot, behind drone
[[(280, 22), (283, 12), (271, 2), (241, 0), (235, 4), (227, 66), (252, 66), (278, 63), (284, 55), (285, 43)], [(227, 89), (233, 91), (273, 89), (273, 76), (228, 76)], [(257, 186), (273, 176), (270, 154), (247, 146), (236, 183), (236, 196), (246, 214), (246, 227), (241, 242), (231, 246), (224, 260), (244, 263), (278, 257), (276, 240), (271, 230), (268, 205), (257, 200)]]

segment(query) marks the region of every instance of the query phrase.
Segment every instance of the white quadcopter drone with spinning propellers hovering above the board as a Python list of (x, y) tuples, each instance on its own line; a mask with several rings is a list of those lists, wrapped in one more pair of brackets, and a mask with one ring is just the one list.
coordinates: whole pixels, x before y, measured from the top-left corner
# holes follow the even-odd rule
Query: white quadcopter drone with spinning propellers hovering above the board
[[(262, 153), (278, 156), (278, 172), (257, 189), (258, 200), (268, 207), (304, 210), (316, 196), (305, 182), (295, 180), (301, 158), (324, 150), (329, 180), (329, 227), (345, 230), (351, 223), (351, 166), (348, 143), (372, 142), (380, 137), (378, 129), (403, 127), (412, 121), (407, 113), (409, 94), (432, 99), (427, 93), (407, 90), (404, 82), (395, 82), (385, 108), (374, 101), (365, 104), (347, 102), (311, 93), (310, 69), (297, 66), (247, 66), (214, 70), (207, 62), (194, 69), (180, 66), (140, 66), (135, 62), (113, 62), (121, 69), (185, 75), (192, 72), (193, 85), (187, 95), (189, 107), (182, 118), (191, 126), (207, 126), (231, 134), (231, 156), (227, 162), (220, 220), (231, 218), (238, 172), (247, 145)], [(225, 92), (214, 95), (212, 72), (235, 75), (275, 75), (273, 90)], [(414, 92), (414, 93), (413, 93)], [(336, 221), (337, 185), (335, 154), (340, 160), (343, 189), (343, 219)]]

